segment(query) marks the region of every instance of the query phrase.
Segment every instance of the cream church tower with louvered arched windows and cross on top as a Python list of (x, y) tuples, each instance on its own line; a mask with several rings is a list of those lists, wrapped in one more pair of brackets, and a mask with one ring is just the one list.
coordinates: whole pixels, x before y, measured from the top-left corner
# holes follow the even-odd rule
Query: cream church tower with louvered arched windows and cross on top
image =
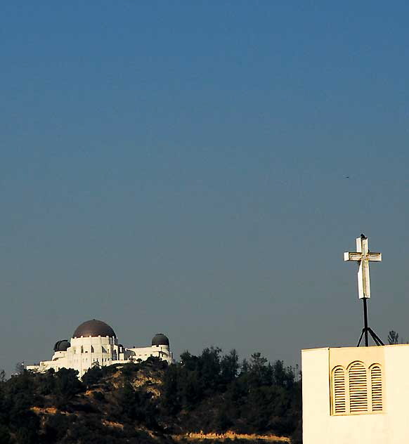
[[(304, 444), (403, 444), (409, 442), (409, 345), (384, 346), (368, 327), (368, 238), (356, 240), (358, 294), (364, 303), (365, 347), (301, 351)], [(368, 346), (368, 333), (377, 346)]]

